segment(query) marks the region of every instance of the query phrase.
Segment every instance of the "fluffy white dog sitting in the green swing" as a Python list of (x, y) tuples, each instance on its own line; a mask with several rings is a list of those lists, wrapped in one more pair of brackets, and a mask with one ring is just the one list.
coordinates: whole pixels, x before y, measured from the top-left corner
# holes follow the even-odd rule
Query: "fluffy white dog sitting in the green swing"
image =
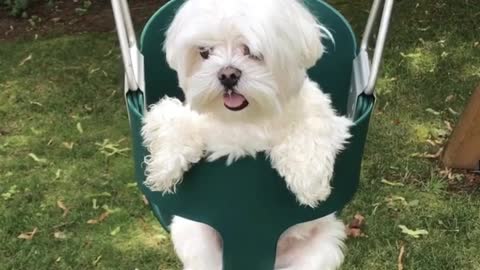
[[(164, 98), (145, 117), (146, 184), (174, 192), (204, 157), (265, 151), (300, 204), (324, 201), (351, 125), (307, 77), (325, 33), (299, 0), (186, 1), (165, 41), (186, 102)], [(222, 269), (211, 227), (175, 217), (171, 233), (184, 269)], [(336, 269), (344, 238), (333, 214), (296, 225), (279, 240), (275, 269)]]

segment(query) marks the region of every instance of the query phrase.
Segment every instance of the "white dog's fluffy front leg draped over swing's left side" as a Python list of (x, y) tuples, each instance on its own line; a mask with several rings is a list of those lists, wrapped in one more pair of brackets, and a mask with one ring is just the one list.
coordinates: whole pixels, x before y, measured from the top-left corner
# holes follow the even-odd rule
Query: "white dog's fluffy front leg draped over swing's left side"
[(183, 173), (203, 155), (202, 117), (179, 100), (164, 98), (146, 114), (142, 135), (150, 155), (145, 184), (153, 191), (173, 192)]

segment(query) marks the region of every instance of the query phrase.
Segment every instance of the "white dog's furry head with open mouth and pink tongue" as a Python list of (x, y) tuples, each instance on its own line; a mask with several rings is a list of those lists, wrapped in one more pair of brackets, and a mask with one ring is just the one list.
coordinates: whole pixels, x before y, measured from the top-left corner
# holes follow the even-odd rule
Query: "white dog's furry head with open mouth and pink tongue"
[(188, 0), (165, 50), (194, 110), (266, 117), (298, 95), (323, 53), (320, 30), (297, 0)]

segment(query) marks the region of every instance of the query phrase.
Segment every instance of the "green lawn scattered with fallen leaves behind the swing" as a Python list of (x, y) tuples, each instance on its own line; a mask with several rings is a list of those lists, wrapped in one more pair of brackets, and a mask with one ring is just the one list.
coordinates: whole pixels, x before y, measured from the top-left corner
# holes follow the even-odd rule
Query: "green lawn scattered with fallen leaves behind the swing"
[[(369, 2), (336, 5), (361, 32)], [(342, 213), (365, 216), (367, 237), (347, 242), (343, 269), (396, 269), (401, 246), (405, 269), (480, 269), (478, 193), (449, 192), (455, 180), (412, 155), (438, 150), (426, 140), (445, 140), (480, 82), (479, 19), (474, 1), (397, 1), (362, 185)], [(132, 185), (131, 151), (101, 151), (130, 147), (116, 47), (113, 34), (1, 44), (0, 269), (180, 269)]]

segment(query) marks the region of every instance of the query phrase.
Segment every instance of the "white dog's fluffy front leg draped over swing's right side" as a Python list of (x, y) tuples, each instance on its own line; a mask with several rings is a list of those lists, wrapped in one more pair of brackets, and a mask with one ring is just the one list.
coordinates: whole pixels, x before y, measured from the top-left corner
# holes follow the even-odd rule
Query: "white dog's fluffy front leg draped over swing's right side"
[(272, 147), (270, 158), (298, 201), (315, 207), (330, 195), (335, 158), (350, 137), (351, 121), (337, 116), (318, 88), (310, 88), (299, 105), (302, 116)]

